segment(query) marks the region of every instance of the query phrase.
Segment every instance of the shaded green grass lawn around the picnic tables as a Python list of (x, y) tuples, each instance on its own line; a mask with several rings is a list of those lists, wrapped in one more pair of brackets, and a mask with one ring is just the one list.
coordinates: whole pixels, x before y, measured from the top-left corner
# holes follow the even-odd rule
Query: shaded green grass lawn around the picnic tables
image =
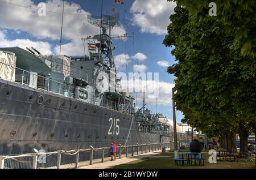
[[(142, 158), (141, 160), (129, 162), (127, 164), (113, 166), (112, 169), (244, 169), (255, 167), (253, 162), (245, 162), (246, 160), (242, 158), (240, 158), (238, 162), (217, 161), (216, 164), (210, 164), (208, 161), (205, 161), (204, 166), (176, 166), (173, 160), (173, 153), (161, 153), (156, 156), (166, 157)], [(202, 156), (206, 159), (209, 157), (207, 154), (203, 154)]]

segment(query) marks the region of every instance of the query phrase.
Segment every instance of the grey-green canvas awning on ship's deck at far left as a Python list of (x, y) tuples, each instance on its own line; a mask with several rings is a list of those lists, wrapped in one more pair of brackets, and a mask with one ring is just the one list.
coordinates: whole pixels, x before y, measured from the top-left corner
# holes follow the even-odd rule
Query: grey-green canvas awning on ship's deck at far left
[(40, 58), (36, 55), (27, 52), (24, 49), (19, 47), (15, 48), (0, 48), (0, 50), (7, 50), (9, 52), (15, 53), (16, 59), (16, 67), (22, 68), (23, 70), (44, 73), (47, 74), (51, 72), (51, 68), (49, 68)]

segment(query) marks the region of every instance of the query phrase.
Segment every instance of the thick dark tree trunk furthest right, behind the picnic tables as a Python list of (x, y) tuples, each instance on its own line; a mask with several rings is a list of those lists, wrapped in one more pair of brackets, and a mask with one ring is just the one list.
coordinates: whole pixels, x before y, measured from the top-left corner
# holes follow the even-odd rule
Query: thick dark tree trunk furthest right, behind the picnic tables
[(239, 138), (240, 138), (239, 155), (242, 156), (243, 153), (248, 152), (247, 144), (248, 144), (248, 138), (249, 138), (249, 134), (248, 134), (244, 124), (239, 125), (238, 134), (239, 134)]

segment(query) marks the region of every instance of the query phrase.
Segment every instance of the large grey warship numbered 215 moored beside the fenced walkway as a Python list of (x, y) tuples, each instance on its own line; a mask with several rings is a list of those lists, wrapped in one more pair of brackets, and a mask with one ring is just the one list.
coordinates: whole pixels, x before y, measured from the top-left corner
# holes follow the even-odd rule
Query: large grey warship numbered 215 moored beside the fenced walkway
[[(101, 19), (88, 17), (99, 25)], [(170, 142), (172, 129), (161, 114), (135, 112), (134, 98), (117, 78), (111, 31), (118, 15), (104, 15), (102, 33), (89, 37), (98, 49), (88, 56), (42, 55), (0, 48), (0, 155)], [(91, 45), (93, 46), (93, 45)], [(100, 92), (98, 74), (114, 74)], [(162, 120), (160, 120), (162, 119)], [(185, 134), (179, 134), (185, 136)]]

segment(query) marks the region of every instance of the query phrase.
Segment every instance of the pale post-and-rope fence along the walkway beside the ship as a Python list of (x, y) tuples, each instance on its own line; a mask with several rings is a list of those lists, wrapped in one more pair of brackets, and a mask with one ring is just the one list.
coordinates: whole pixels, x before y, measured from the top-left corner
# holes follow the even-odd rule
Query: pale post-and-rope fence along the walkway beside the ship
[[(117, 157), (142, 155), (147, 152), (172, 148), (171, 142), (122, 145), (117, 147)], [(31, 153), (18, 156), (0, 156), (0, 169), (69, 169), (103, 163), (110, 160), (108, 147)], [(96, 157), (96, 158), (95, 158)], [(97, 158), (100, 157), (100, 158)]]

